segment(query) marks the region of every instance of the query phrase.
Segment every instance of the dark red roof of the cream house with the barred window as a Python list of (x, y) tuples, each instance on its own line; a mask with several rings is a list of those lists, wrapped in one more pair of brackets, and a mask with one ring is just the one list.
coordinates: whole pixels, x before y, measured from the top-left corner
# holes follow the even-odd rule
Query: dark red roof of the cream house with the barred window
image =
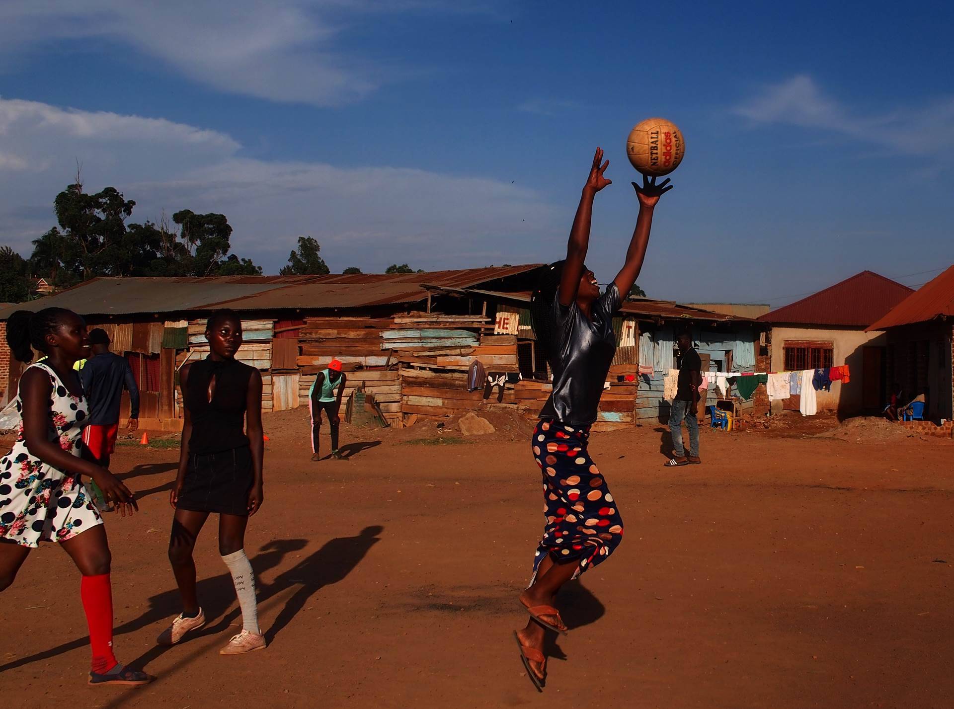
[(830, 285), (800, 301), (773, 310), (765, 323), (866, 327), (902, 302), (913, 291), (872, 271)]

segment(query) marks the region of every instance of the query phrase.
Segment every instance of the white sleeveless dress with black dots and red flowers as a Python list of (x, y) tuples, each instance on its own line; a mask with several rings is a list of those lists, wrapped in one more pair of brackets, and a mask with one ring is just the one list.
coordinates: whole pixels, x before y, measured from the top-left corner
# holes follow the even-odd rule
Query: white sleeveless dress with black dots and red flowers
[[(86, 399), (71, 395), (50, 366), (37, 363), (32, 367), (49, 374), (52, 384), (49, 440), (78, 457), (80, 434), (89, 413)], [(17, 410), (22, 413), (19, 401)], [(93, 495), (79, 476), (31, 455), (21, 421), (16, 443), (0, 459), (0, 537), (37, 547), (41, 541), (66, 541), (102, 523)]]

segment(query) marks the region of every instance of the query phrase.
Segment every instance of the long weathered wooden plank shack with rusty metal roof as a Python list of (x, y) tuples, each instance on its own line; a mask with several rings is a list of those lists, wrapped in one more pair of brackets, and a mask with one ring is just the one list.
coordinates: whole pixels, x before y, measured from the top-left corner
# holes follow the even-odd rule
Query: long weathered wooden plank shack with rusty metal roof
[[(178, 369), (208, 353), (205, 320), (224, 307), (242, 318), (245, 344), (238, 356), (261, 370), (266, 411), (306, 405), (315, 375), (337, 357), (348, 371), (345, 396), (360, 389), (390, 426), (444, 420), (484, 407), (513, 408), (532, 418), (550, 393), (547, 365), (529, 325), (529, 296), (543, 267), (98, 278), (10, 305), (0, 310), (0, 321), (21, 307), (56, 305), (83, 315), (91, 327), (103, 327), (113, 351), (132, 365), (140, 389), (140, 425), (152, 429), (181, 427)], [(597, 422), (604, 429), (667, 420), (663, 377), (674, 367), (679, 329), (693, 330), (704, 366), (752, 371), (765, 328), (748, 318), (648, 299), (625, 302), (613, 325), (619, 347)], [(487, 391), (467, 390), (467, 368), (474, 359), (497, 383)], [(0, 368), (5, 400), (15, 392), (19, 374), (15, 362)], [(124, 402), (124, 416), (128, 410)]]

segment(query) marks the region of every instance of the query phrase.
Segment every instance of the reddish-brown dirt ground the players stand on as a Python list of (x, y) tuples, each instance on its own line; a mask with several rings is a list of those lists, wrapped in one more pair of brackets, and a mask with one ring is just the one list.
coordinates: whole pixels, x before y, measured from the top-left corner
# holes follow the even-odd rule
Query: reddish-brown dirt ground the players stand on
[(311, 463), (305, 416), (265, 420), (246, 549), (267, 650), (218, 655), (239, 610), (212, 525), (197, 548), (209, 624), (156, 646), (178, 612), (177, 449), (122, 446), (114, 470), (141, 514), (108, 522), (115, 648), (159, 679), (86, 686), (78, 575), (46, 545), (0, 602), (4, 704), (951, 706), (950, 441), (705, 429), (704, 465), (667, 469), (659, 427), (595, 434), (626, 538), (561, 597), (570, 636), (551, 642), (538, 695), (511, 636), (543, 523), (529, 444), (346, 427), (350, 459)]

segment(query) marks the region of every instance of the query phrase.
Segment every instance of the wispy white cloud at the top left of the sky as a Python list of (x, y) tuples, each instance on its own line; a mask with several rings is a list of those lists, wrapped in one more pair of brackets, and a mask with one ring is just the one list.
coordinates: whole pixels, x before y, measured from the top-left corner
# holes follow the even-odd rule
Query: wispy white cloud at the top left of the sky
[(218, 91), (336, 106), (400, 71), (352, 51), (341, 36), (348, 22), (437, 10), (481, 8), (407, 0), (4, 0), (0, 69), (44, 42), (84, 40), (86, 51), (115, 43)]

